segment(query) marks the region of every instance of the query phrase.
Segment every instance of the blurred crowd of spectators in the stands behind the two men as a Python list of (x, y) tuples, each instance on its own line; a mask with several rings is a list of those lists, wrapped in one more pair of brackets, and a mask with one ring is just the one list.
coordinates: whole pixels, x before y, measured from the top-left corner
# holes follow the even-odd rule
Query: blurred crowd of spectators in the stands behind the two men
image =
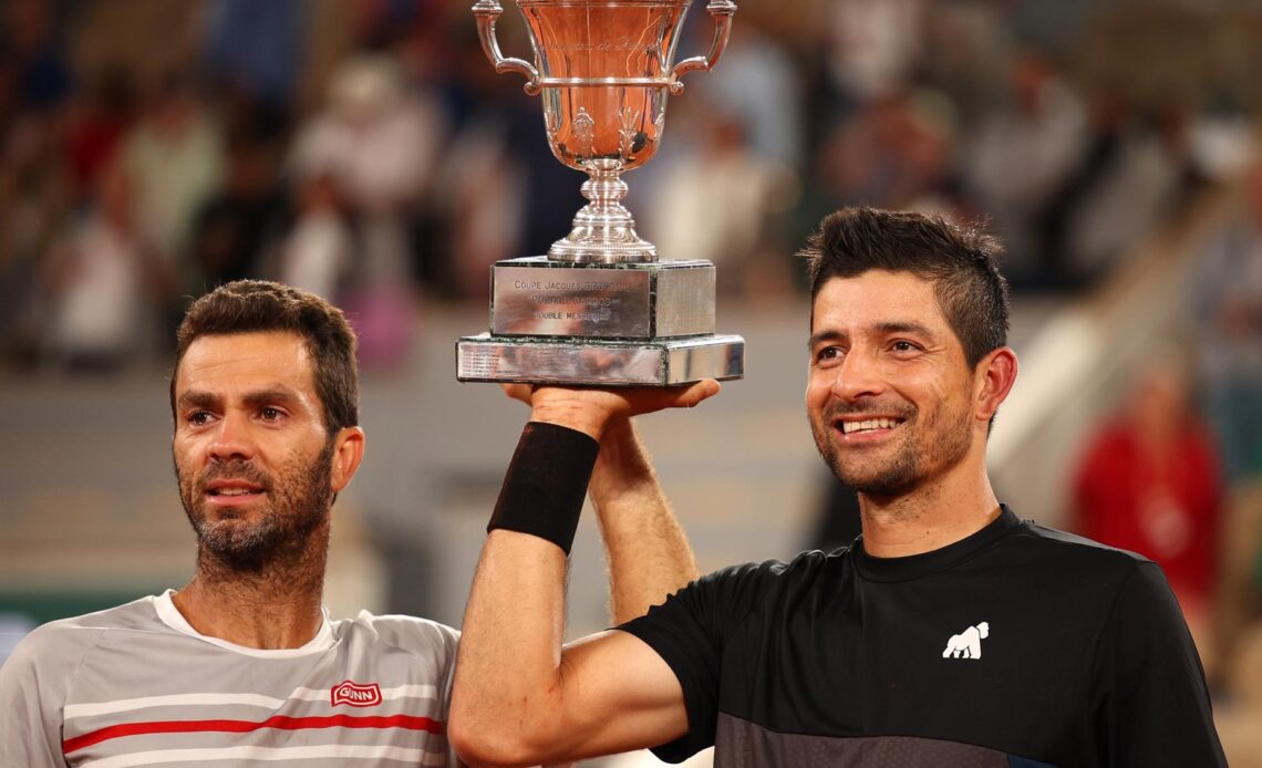
[[(485, 304), (488, 265), (544, 252), (583, 199), (468, 5), (4, 3), (0, 367), (165, 359), (186, 303), (237, 277), (334, 299), (370, 369), (405, 358), (423, 301)], [(693, 5), (676, 58), (709, 45)], [(689, 76), (660, 156), (627, 178), (641, 233), (666, 259), (714, 261), (726, 298), (799, 291), (795, 250), (847, 204), (984, 219), (1018, 293), (1088, 290), (1256, 163), (1262, 13), (1247, 3), (740, 5), (722, 62)], [(506, 11), (502, 45), (526, 55)], [(1182, 562), (1193, 614), (1213, 599), (1223, 509), (1262, 475), (1254, 177), (1189, 286), (1196, 361), (1137, 375), (1076, 487), (1083, 530)], [(1146, 496), (1118, 501), (1122, 473)]]

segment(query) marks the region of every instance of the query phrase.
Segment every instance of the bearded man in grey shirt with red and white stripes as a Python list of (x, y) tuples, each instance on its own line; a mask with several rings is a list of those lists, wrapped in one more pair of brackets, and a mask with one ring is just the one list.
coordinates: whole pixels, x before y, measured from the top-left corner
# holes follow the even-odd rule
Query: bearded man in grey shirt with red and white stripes
[[(321, 607), (331, 509), (365, 445), (341, 310), (273, 282), (212, 291), (179, 328), (170, 402), (196, 574), (28, 636), (0, 668), (0, 765), (458, 764), (457, 632)], [(630, 430), (607, 435), (617, 450)], [(594, 492), (625, 493), (606, 465)], [(616, 618), (694, 578), (673, 564), (628, 578)]]

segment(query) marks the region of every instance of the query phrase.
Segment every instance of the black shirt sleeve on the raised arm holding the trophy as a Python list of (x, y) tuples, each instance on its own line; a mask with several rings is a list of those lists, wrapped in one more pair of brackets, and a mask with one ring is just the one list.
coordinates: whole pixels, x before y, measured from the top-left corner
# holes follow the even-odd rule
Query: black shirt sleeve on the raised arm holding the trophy
[(684, 691), (688, 733), (654, 748), (658, 758), (679, 763), (714, 744), (723, 649), (782, 570), (767, 561), (716, 571), (618, 627), (656, 651)]

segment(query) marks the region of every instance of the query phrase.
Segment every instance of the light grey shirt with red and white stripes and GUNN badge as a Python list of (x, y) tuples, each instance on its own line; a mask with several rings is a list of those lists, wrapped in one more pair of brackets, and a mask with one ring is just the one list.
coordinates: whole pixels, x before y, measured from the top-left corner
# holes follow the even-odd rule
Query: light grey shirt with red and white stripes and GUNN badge
[(28, 636), (0, 667), (0, 765), (458, 765), (459, 633), (361, 612), (302, 648), (198, 634), (168, 591)]

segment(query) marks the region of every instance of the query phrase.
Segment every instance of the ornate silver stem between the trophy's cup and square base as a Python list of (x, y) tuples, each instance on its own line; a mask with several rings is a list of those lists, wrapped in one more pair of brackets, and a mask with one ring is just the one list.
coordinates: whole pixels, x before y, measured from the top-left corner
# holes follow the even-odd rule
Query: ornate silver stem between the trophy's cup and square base
[(583, 197), (588, 202), (574, 216), (574, 228), (548, 248), (548, 259), (575, 264), (627, 264), (658, 260), (658, 248), (635, 231), (635, 218), (622, 204), (627, 183), (615, 163), (592, 161)]

